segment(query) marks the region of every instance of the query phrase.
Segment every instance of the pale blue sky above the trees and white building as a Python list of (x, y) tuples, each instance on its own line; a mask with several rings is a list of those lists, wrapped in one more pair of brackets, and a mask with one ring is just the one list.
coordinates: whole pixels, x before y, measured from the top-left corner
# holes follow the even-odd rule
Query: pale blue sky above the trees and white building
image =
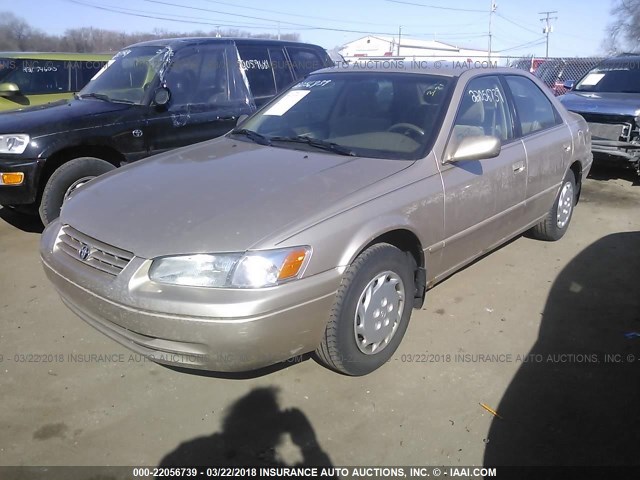
[[(492, 51), (544, 56), (540, 12), (551, 17), (549, 56), (603, 53), (612, 0), (494, 0)], [(488, 49), (491, 0), (0, 0), (10, 11), (50, 34), (95, 27), (125, 32), (164, 29), (188, 33), (217, 27), (252, 33), (297, 32), (327, 49), (367, 34), (439, 40)], [(115, 11), (114, 11), (115, 10)], [(116, 12), (117, 11), (117, 12)], [(159, 17), (159, 18), (149, 18)]]

